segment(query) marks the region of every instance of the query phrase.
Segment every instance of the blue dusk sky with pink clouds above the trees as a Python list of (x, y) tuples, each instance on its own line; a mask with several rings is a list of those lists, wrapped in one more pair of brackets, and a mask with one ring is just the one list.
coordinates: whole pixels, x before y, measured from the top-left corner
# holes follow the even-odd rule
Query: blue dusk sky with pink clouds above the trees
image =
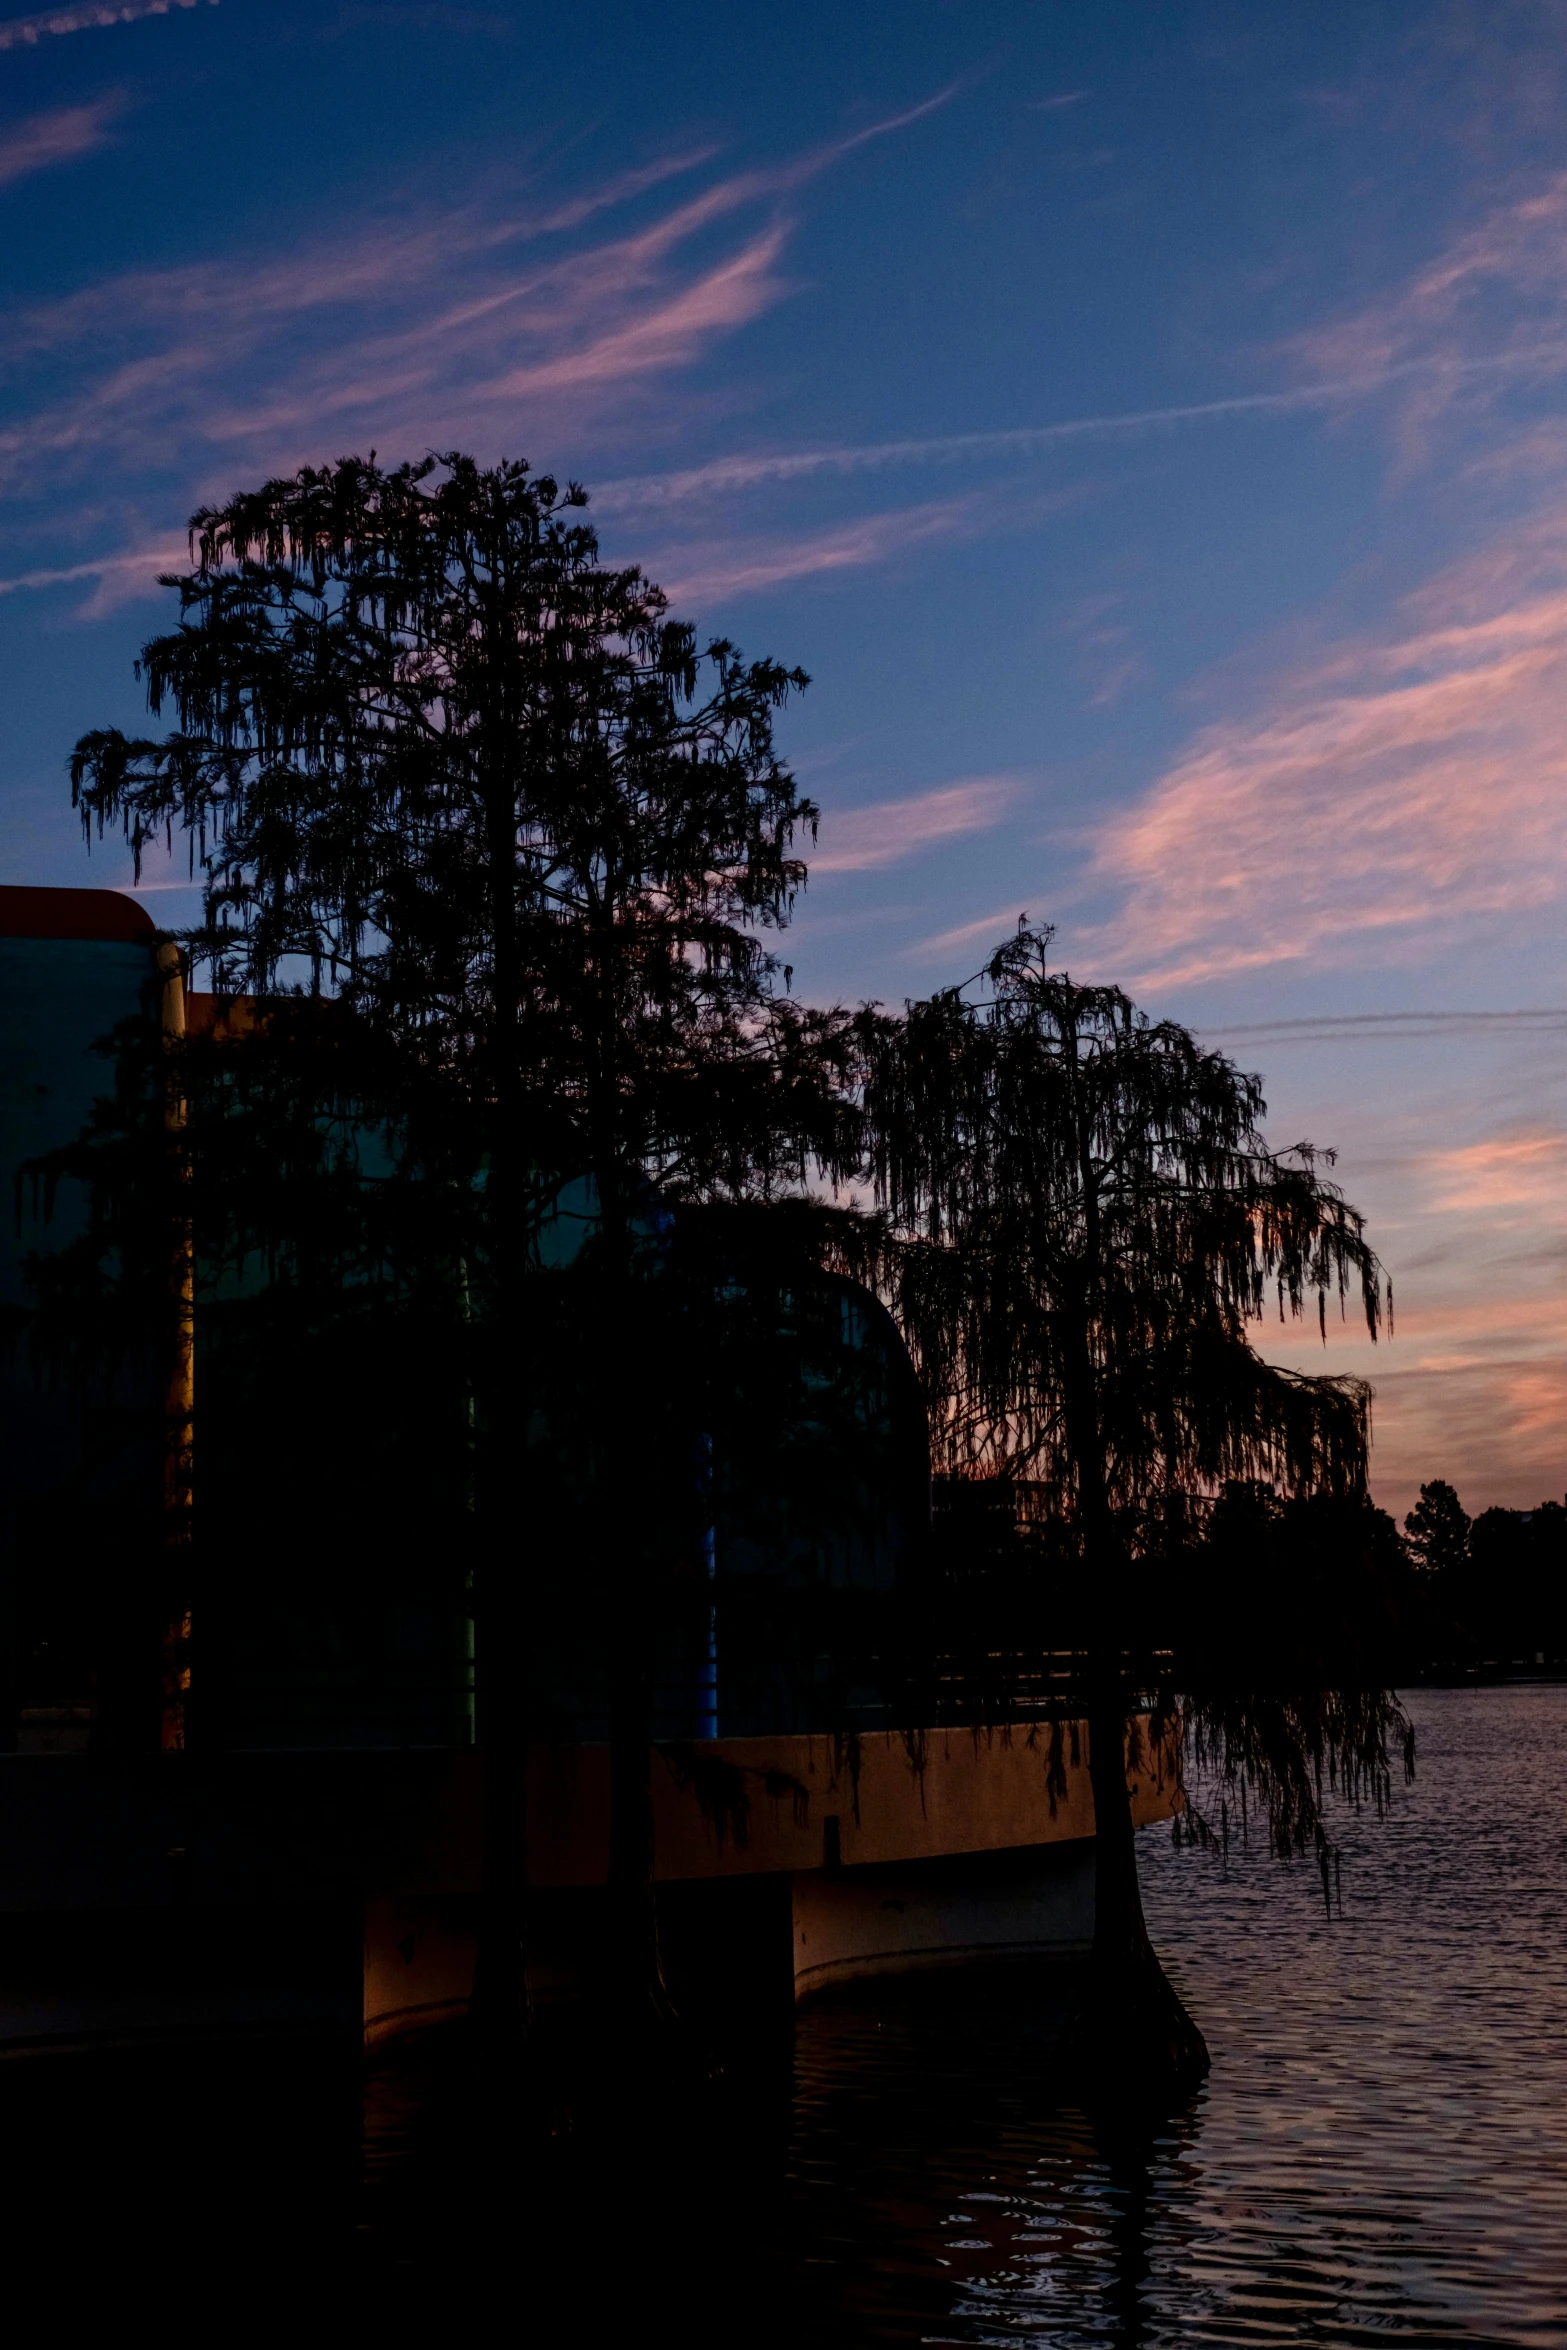
[(66, 0), (0, 223), (0, 879), (197, 505), (526, 456), (811, 672), (796, 989), (1052, 924), (1337, 1149), (1377, 1499), (1562, 1495), (1567, 0)]

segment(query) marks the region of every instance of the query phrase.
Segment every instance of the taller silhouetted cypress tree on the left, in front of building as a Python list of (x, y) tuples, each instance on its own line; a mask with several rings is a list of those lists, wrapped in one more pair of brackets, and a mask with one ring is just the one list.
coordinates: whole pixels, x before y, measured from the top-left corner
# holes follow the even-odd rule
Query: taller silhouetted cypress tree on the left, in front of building
[[(618, 1687), (613, 1875), (658, 1983), (646, 1687), (625, 1539), (632, 1384), (648, 1347), (637, 1210), (749, 1184), (799, 1156), (829, 1088), (818, 1027), (778, 992), (761, 931), (803, 881), (815, 811), (773, 750), (806, 684), (745, 663), (634, 566), (599, 562), (585, 494), (451, 454), (308, 468), (202, 510), (179, 627), (141, 674), (160, 740), (78, 743), (89, 832), (141, 862), (179, 830), (204, 879), (186, 945), (223, 992), (334, 996), (371, 1041), (366, 1114), (404, 1168), (479, 1201), (453, 1278), (479, 1356), (477, 1589), (489, 1751), (479, 2005), (512, 2014), (524, 1887), (519, 1462), (547, 1316), (536, 1236), (561, 1184), (594, 1191), (604, 1304), (594, 1551)], [(369, 1076), (366, 1076), (369, 1083)], [(646, 1253), (644, 1253), (646, 1255)], [(197, 1417), (200, 1448), (200, 1417)]]

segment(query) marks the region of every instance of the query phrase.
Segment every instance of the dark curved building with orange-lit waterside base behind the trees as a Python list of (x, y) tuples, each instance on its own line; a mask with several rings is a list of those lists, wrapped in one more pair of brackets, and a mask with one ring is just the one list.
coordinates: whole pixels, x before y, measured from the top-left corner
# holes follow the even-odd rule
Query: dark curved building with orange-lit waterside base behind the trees
[[(195, 1032), (214, 1018), (211, 999), (183, 996), (132, 900), (0, 891), (12, 1325), (31, 1295), (28, 1250), (82, 1231), (70, 1184), (45, 1215), (21, 1168), (66, 1144), (110, 1090), (99, 1041), (122, 1022)], [(540, 1246), (564, 1262), (592, 1227), (592, 1196), (564, 1189), (554, 1224)], [(186, 2030), (197, 2014), (209, 2028), (329, 2019), (383, 2035), (460, 2012), (484, 1810), (460, 1577), (413, 1539), (374, 1591), (317, 1574), (308, 1556), (280, 1572), (275, 1535), (247, 1542), (237, 1506), (218, 1499), (226, 1535), (186, 1624), (160, 1546), (169, 1499), (183, 1502), (167, 1434), (190, 1412), (190, 1365), (132, 1363), (85, 1396), (49, 1377), (16, 1328), (12, 1340), (0, 2047)], [(780, 1466), (740, 1473), (721, 1445), (681, 1466), (707, 1502), (693, 1509), (688, 1605), (653, 1673), (670, 1950), (698, 1995), (717, 1969), (756, 2000), (1083, 1950), (1092, 1800), (1076, 1741), (1062, 1746), (1055, 1725), (1052, 1774), (1050, 1730), (975, 1737), (937, 1706), (907, 1737), (888, 1699), (890, 1626), (928, 1523), (923, 1415), (897, 1332), (869, 1295), (820, 1281), (796, 1300), (789, 1347)], [(221, 1349), (211, 1363), (197, 1351), (197, 1464), (204, 1443), (214, 1455), (249, 1443), (242, 1415), (226, 1419), (233, 1377)], [(287, 1443), (265, 1457), (270, 1485), (287, 1485)], [(218, 1471), (211, 1490), (223, 1492)], [(573, 1605), (571, 1577), (559, 1584), (566, 1598), (536, 1643), (547, 1737), (529, 1770), (540, 1998), (583, 1976), (608, 1854), (592, 1593)], [(728, 1765), (726, 1805), (700, 1800), (702, 1760)], [(1165, 1755), (1139, 1770), (1135, 1802), (1144, 1821), (1179, 1802)], [(143, 1958), (127, 1969), (132, 1946)]]

